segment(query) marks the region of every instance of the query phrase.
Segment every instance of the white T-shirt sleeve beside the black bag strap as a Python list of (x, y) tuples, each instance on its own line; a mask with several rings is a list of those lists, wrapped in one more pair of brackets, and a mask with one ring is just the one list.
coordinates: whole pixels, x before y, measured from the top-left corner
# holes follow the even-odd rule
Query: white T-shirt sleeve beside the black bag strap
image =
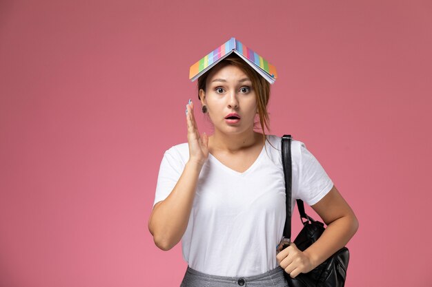
[(300, 145), (298, 198), (309, 206), (319, 202), (333, 187), (333, 181), (306, 145)]

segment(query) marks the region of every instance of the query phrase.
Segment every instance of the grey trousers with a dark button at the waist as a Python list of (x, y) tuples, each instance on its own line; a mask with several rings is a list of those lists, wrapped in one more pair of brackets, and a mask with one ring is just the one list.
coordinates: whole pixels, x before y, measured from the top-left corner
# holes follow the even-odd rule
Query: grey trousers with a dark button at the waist
[(180, 287), (288, 287), (284, 277), (284, 269), (277, 266), (250, 277), (225, 277), (201, 273), (188, 266)]

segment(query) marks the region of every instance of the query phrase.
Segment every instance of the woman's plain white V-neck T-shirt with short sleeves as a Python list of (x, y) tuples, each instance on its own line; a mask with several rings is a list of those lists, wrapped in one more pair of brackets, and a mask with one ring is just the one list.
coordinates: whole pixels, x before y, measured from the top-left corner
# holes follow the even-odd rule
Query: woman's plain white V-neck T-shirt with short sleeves
[[(253, 276), (278, 266), (276, 246), (286, 219), (281, 138), (267, 135), (266, 149), (243, 173), (211, 153), (199, 173), (188, 227), (181, 238), (188, 266), (219, 276)], [(308, 205), (333, 187), (320, 162), (303, 142), (291, 141), (292, 210), (295, 199)], [(168, 197), (189, 158), (188, 143), (175, 145), (162, 158), (155, 202)]]

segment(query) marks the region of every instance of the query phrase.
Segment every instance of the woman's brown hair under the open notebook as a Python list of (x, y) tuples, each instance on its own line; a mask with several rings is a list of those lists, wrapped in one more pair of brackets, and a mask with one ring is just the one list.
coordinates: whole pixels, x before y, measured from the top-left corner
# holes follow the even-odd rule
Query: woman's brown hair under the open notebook
[[(269, 128), (269, 122), (270, 119), (268, 118), (268, 111), (267, 111), (267, 105), (268, 100), (270, 99), (270, 83), (266, 81), (266, 79), (258, 74), (253, 68), (246, 63), (242, 58), (237, 56), (237, 54), (230, 54), (225, 59), (217, 63), (214, 67), (210, 69), (215, 70), (215, 67), (219, 66), (225, 66), (225, 65), (235, 65), (236, 67), (239, 67), (240, 70), (242, 70), (249, 79), (251, 79), (252, 87), (255, 91), (255, 96), (257, 100), (257, 111), (259, 114), (259, 125), (262, 129), (262, 135), (263, 135), (263, 141), (264, 145), (266, 142), (266, 131), (264, 128), (266, 128), (268, 131), (270, 131)], [(199, 90), (203, 89), (204, 92), (206, 92), (206, 81), (208, 78), (208, 75), (210, 74), (210, 71), (207, 71), (202, 76), (198, 78), (197, 81), (197, 88), (198, 88), (198, 98), (199, 98)], [(199, 98), (201, 100), (201, 98)], [(257, 125), (258, 122), (254, 123), (254, 126)]]

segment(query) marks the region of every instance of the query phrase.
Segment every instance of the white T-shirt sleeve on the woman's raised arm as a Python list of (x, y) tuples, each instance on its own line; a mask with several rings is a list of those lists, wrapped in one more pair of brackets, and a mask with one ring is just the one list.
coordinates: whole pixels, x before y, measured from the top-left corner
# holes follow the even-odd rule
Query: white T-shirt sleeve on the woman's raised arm
[(157, 185), (155, 193), (155, 204), (161, 200), (165, 200), (171, 191), (173, 191), (175, 184), (179, 180), (181, 173), (183, 172), (184, 164), (181, 161), (181, 157), (178, 151), (174, 147), (171, 147), (164, 153), (161, 165), (159, 167), (159, 174), (157, 176)]

